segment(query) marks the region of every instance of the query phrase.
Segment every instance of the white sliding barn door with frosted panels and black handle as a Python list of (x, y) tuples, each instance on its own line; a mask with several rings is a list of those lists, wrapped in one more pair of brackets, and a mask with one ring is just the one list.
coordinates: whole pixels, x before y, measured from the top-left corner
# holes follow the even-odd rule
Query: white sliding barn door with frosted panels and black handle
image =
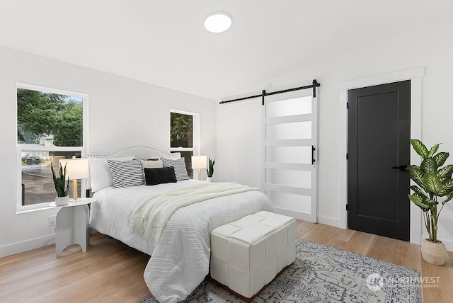
[(275, 212), (317, 222), (318, 103), (313, 90), (266, 96), (262, 121), (261, 189)]

